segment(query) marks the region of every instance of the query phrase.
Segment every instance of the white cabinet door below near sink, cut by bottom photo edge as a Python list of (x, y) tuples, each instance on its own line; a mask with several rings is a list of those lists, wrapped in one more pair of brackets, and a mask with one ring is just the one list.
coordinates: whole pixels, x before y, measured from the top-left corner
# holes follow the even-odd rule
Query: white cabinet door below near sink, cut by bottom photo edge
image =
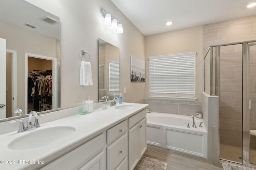
[(94, 156), (92, 160), (84, 164), (78, 170), (106, 170), (106, 152), (105, 150)]

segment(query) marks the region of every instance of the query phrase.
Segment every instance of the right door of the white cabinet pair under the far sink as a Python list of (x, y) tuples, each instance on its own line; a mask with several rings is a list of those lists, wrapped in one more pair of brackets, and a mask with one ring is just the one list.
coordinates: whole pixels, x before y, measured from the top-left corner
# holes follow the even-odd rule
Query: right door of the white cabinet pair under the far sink
[(146, 119), (139, 125), (140, 136), (140, 158), (147, 149), (147, 133), (146, 133)]

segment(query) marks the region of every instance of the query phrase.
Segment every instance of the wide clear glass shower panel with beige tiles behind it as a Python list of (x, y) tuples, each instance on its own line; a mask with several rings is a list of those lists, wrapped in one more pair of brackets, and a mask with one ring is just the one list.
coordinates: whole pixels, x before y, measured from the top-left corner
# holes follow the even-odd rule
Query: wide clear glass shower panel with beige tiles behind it
[(220, 46), (220, 159), (242, 164), (242, 44)]

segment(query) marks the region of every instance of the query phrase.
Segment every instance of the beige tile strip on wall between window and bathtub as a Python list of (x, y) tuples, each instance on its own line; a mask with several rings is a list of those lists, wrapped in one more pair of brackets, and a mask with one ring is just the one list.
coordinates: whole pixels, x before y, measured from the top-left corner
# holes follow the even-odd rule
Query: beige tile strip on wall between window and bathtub
[[(181, 100), (146, 99), (145, 104), (154, 112), (196, 116), (197, 111), (202, 111), (202, 102), (190, 102)], [(204, 117), (204, 114), (203, 114)]]

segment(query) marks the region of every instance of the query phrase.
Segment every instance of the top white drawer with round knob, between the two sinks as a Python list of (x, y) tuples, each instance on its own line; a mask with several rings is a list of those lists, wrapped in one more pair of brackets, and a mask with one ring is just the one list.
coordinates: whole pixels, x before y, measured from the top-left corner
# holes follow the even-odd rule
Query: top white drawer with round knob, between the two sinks
[(110, 144), (112, 141), (120, 137), (128, 129), (128, 121), (122, 121), (118, 125), (107, 130), (107, 143)]

